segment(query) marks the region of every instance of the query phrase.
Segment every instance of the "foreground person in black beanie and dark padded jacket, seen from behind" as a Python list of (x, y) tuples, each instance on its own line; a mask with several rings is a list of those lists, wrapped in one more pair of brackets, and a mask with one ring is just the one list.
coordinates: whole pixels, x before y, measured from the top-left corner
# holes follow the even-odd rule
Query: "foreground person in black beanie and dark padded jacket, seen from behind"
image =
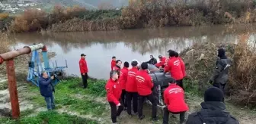
[(188, 116), (186, 124), (239, 124), (233, 116), (226, 112), (224, 94), (216, 87), (208, 88), (204, 93), (202, 109)]

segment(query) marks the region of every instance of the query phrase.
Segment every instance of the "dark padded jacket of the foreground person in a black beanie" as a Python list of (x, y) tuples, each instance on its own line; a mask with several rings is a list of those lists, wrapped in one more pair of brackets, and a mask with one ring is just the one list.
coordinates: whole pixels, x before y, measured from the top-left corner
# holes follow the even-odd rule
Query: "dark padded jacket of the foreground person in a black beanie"
[(223, 102), (208, 101), (201, 106), (200, 112), (188, 116), (186, 124), (239, 124), (238, 120), (226, 112)]

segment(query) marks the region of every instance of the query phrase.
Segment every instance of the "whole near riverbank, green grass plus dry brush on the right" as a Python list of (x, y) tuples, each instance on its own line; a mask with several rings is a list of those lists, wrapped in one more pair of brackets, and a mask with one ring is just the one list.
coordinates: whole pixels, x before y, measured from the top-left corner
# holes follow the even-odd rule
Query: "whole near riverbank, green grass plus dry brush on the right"
[[(256, 112), (254, 110), (254, 98), (251, 92), (254, 92), (254, 83), (249, 80), (255, 79), (255, 65), (250, 61), (255, 60), (254, 54), (248, 51), (245, 46), (248, 40), (247, 34), (239, 36), (237, 45), (234, 44), (212, 44), (210, 42), (198, 43), (187, 50), (181, 52), (181, 57), (184, 59), (187, 68), (187, 78), (184, 79), (186, 88), (186, 101), (190, 107), (188, 114), (200, 110), (200, 103), (203, 101), (203, 91), (210, 86), (208, 79), (211, 76), (216, 60), (216, 48), (222, 46), (226, 48), (227, 56), (233, 60), (233, 66), (230, 71), (230, 80), (228, 88), (230, 96), (226, 96), (227, 110), (235, 116), (242, 124), (254, 124), (256, 121)], [(196, 51), (197, 50), (197, 51)], [(239, 52), (240, 51), (240, 52)], [(243, 52), (241, 52), (243, 51)], [(245, 52), (246, 51), (246, 52)], [(240, 59), (235, 60), (236, 57)], [(245, 60), (246, 59), (246, 60)], [(243, 62), (243, 63), (242, 63)], [(246, 64), (245, 64), (246, 62)], [(24, 65), (17, 65), (25, 67)], [(243, 70), (245, 65), (249, 68)], [(16, 67), (17, 67), (16, 66)], [(245, 75), (245, 71), (251, 75), (251, 79)], [(105, 98), (104, 85), (106, 80), (88, 79), (88, 89), (82, 88), (82, 79), (71, 77), (62, 80), (56, 85), (56, 110), (46, 111), (46, 105), (43, 98), (40, 96), (39, 89), (30, 83), (25, 82), (26, 70), (16, 70), (18, 82), (18, 95), (21, 107), (21, 119), (18, 121), (8, 119), (10, 116), (11, 106), (9, 104), (8, 89), (5, 73), (0, 76), (0, 113), (2, 118), (0, 123), (34, 123), (49, 122), (59, 123), (64, 122), (82, 122), (88, 123), (111, 123), (110, 122), (110, 107)], [(238, 78), (235, 78), (238, 77)], [(241, 82), (242, 85), (241, 85)], [(245, 89), (247, 85), (251, 85), (251, 89)], [(241, 92), (243, 91), (243, 92)], [(230, 92), (232, 92), (230, 94)], [(236, 94), (234, 94), (236, 93)], [(253, 94), (252, 94), (253, 95)], [(236, 98), (236, 99), (234, 99)], [(250, 100), (250, 101), (245, 101)], [(239, 105), (239, 106), (238, 106)], [(122, 113), (121, 123), (136, 124), (136, 123), (152, 123), (150, 121), (151, 107), (145, 104), (146, 119), (139, 121), (136, 116), (129, 118), (126, 112)], [(149, 113), (149, 114), (148, 114)], [(160, 121), (162, 123), (162, 111), (158, 110)], [(56, 119), (58, 118), (58, 119)], [(71, 123), (72, 123), (71, 122)], [(170, 116), (170, 122), (177, 123), (178, 116), (175, 118)]]

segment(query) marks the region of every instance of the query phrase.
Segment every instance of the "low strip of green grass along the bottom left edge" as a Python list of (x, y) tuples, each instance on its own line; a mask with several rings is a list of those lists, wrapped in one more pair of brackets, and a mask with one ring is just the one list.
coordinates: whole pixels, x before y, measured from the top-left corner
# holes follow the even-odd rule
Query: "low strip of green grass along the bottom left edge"
[(24, 117), (19, 120), (11, 120), (8, 118), (1, 118), (1, 123), (5, 124), (39, 124), (39, 123), (51, 123), (51, 124), (62, 124), (62, 123), (75, 123), (75, 124), (98, 124), (90, 119), (84, 119), (78, 116), (70, 116), (67, 113), (57, 113), (56, 111), (40, 112), (37, 116)]

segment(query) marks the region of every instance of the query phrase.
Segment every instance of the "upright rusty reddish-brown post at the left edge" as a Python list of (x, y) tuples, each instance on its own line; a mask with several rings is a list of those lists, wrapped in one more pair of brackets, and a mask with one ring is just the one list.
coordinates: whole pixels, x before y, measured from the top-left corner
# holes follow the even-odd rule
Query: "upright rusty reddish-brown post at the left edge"
[(13, 58), (11, 60), (6, 61), (6, 70), (8, 76), (8, 88), (11, 101), (11, 116), (13, 119), (18, 119), (20, 117), (20, 106), (18, 103), (18, 90)]

